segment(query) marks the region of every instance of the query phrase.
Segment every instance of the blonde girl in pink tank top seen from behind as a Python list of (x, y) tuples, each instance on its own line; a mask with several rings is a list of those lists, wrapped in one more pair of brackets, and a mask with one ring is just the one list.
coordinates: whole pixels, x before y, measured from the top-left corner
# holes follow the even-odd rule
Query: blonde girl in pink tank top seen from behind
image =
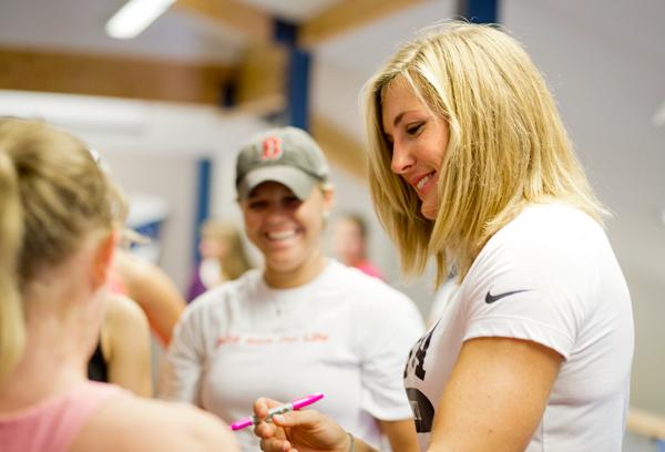
[(122, 222), (78, 140), (0, 120), (0, 444), (3, 452), (236, 451), (228, 427), (90, 382)]

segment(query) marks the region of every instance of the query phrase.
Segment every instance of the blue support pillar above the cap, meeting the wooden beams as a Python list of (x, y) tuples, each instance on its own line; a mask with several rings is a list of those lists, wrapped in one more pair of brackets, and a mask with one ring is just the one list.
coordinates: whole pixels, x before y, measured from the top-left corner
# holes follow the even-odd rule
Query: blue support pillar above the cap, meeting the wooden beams
[(309, 129), (309, 66), (311, 55), (297, 47), (298, 28), (275, 20), (275, 41), (288, 49), (287, 110), (290, 125)]

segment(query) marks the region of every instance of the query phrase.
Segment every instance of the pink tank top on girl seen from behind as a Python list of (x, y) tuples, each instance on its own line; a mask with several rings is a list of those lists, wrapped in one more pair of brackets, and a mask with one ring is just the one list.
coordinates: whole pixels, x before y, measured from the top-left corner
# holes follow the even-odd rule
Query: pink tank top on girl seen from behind
[(86, 381), (18, 413), (0, 415), (0, 450), (66, 452), (95, 411), (123, 393), (113, 384)]

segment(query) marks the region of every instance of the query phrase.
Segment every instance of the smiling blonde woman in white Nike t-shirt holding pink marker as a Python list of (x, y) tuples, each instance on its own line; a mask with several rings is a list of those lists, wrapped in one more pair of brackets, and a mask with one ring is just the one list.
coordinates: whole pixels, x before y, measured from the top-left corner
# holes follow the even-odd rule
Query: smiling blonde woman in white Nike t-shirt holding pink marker
[[(543, 78), (520, 43), (451, 23), (368, 83), (371, 193), (408, 273), (458, 295), (405, 386), (422, 451), (620, 451), (633, 320), (625, 279)], [(258, 400), (257, 415), (274, 401)], [(265, 451), (368, 451), (314, 410)]]

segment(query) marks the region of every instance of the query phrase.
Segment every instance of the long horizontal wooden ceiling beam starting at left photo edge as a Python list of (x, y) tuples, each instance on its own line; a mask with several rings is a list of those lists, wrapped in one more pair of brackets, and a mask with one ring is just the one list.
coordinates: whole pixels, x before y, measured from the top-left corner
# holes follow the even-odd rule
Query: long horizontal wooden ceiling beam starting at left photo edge
[(0, 48), (0, 89), (219, 105), (225, 65)]

